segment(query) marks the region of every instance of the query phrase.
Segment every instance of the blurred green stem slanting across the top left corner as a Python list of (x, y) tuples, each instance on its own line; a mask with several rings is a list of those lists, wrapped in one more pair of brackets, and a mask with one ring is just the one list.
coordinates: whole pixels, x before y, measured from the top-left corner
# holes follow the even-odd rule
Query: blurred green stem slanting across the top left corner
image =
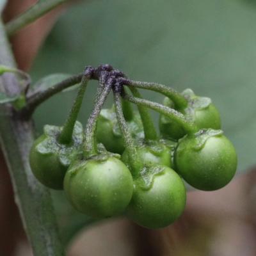
[(31, 22), (35, 21), (45, 13), (56, 8), (61, 3), (67, 2), (68, 0), (41, 0), (29, 7), (25, 12), (20, 13), (17, 17), (10, 20), (6, 26), (6, 33), (8, 36), (13, 35), (19, 29), (28, 26)]

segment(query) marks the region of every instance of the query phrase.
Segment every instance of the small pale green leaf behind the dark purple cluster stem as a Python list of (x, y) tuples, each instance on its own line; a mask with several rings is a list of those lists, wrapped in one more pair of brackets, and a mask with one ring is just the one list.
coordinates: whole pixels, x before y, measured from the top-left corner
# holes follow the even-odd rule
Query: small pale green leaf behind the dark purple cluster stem
[[(38, 92), (44, 92), (48, 88), (54, 86), (54, 84), (60, 83), (61, 81), (68, 79), (72, 75), (70, 74), (51, 74), (49, 76), (45, 76), (42, 79), (38, 80), (31, 90), (31, 93), (38, 93)], [(68, 87), (67, 89), (63, 90), (62, 92), (69, 92), (72, 90), (75, 90), (79, 87), (79, 84), (75, 84), (73, 86)]]

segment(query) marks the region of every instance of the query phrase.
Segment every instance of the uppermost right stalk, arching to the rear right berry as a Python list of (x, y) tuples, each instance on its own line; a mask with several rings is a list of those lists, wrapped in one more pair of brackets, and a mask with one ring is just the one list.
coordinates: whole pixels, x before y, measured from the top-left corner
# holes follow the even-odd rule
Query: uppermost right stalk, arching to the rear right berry
[(162, 93), (164, 96), (172, 100), (172, 102), (175, 104), (175, 107), (177, 109), (184, 109), (184, 108), (187, 108), (188, 106), (187, 100), (179, 92), (163, 84), (139, 82), (139, 81), (132, 81), (132, 80), (128, 80), (128, 83), (125, 83), (125, 84), (127, 84), (128, 86), (134, 86), (137, 88), (147, 89), (147, 90), (152, 90), (154, 92)]

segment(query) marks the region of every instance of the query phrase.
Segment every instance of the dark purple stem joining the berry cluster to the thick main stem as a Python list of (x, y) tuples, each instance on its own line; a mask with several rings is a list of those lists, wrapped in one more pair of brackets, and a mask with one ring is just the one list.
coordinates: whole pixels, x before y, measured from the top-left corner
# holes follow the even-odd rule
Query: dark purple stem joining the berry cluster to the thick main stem
[(49, 99), (52, 95), (61, 92), (65, 88), (68, 88), (74, 84), (80, 83), (83, 77), (83, 73), (76, 76), (69, 77), (61, 81), (60, 83), (54, 84), (53, 86), (47, 88), (44, 92), (38, 92), (29, 96), (26, 107), (21, 110), (22, 115), (27, 120), (31, 117), (36, 107), (38, 107), (42, 102)]

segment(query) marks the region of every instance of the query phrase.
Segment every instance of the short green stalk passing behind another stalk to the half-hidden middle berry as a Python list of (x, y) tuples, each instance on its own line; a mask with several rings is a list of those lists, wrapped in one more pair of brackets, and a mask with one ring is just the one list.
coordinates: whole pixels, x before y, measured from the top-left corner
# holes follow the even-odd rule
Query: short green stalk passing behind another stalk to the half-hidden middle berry
[[(142, 99), (140, 92), (135, 87), (131, 87), (130, 90), (134, 97)], [(157, 140), (157, 132), (147, 107), (138, 105), (138, 110), (143, 124), (145, 140)]]

